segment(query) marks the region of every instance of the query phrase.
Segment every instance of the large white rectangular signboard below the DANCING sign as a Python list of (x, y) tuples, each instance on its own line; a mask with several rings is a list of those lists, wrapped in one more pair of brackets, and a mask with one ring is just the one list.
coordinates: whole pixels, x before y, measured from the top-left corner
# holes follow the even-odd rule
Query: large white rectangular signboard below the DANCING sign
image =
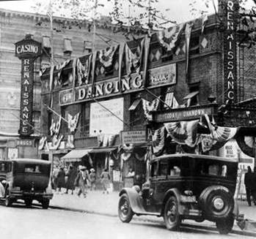
[[(112, 113), (117, 115), (118, 118)], [(92, 103), (89, 117), (89, 135), (99, 134), (100, 130), (102, 134), (119, 134), (123, 129), (121, 120), (123, 121), (123, 98), (109, 99), (99, 102), (99, 104), (97, 102)]]

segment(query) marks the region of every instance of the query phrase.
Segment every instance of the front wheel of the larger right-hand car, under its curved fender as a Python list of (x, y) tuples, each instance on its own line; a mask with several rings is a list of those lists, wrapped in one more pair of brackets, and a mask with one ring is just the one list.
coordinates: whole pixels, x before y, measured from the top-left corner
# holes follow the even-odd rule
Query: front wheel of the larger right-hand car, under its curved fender
[(122, 222), (129, 223), (134, 216), (127, 194), (122, 194), (118, 202), (118, 216)]

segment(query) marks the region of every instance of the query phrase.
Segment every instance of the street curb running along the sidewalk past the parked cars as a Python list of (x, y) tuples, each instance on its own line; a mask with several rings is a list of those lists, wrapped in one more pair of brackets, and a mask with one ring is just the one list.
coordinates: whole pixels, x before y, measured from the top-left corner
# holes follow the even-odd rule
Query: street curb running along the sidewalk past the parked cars
[[(35, 205), (35, 204), (34, 204)], [(100, 213), (97, 212), (95, 210), (82, 210), (82, 209), (76, 209), (76, 208), (62, 208), (60, 206), (54, 206), (54, 205), (50, 205), (49, 208), (52, 209), (57, 209), (57, 210), (69, 210), (69, 211), (73, 211), (73, 212), (78, 212), (78, 213), (88, 213), (88, 214), (95, 214), (95, 215), (100, 215), (100, 216), (109, 216), (109, 217), (117, 217), (117, 214), (111, 214), (111, 213)], [(150, 222), (150, 223), (159, 223), (160, 221), (158, 220), (152, 220), (152, 219), (142, 219), (136, 217), (133, 219), (134, 221), (145, 221), (145, 222)], [(196, 225), (196, 224), (182, 224), (183, 227), (190, 227), (190, 228), (197, 228), (197, 229), (210, 229), (213, 231), (217, 231), (216, 227), (211, 227), (211, 226), (202, 226), (202, 225)], [(237, 234), (237, 235), (246, 235), (246, 236), (251, 236), (251, 237), (256, 237), (256, 232), (252, 232), (252, 231), (239, 231), (237, 229), (233, 229), (232, 232), (233, 234)]]

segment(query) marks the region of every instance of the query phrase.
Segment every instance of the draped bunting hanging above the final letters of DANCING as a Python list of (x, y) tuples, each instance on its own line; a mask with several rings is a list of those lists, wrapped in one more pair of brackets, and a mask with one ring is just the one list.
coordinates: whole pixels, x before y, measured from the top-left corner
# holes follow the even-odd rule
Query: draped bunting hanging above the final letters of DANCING
[(136, 72), (140, 71), (144, 46), (145, 46), (145, 37), (140, 42), (140, 45), (137, 45), (134, 53), (129, 48), (128, 44), (125, 44), (125, 66), (126, 66), (127, 75), (131, 74), (132, 69), (135, 69)]

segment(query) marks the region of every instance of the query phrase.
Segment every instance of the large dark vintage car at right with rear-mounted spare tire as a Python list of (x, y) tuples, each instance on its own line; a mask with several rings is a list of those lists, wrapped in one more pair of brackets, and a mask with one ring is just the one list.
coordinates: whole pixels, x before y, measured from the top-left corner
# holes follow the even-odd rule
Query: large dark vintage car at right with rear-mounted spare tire
[(216, 222), (221, 234), (233, 228), (238, 215), (234, 194), (238, 162), (217, 156), (169, 154), (152, 159), (147, 181), (120, 191), (122, 222), (134, 214), (163, 216), (169, 230), (183, 219)]

